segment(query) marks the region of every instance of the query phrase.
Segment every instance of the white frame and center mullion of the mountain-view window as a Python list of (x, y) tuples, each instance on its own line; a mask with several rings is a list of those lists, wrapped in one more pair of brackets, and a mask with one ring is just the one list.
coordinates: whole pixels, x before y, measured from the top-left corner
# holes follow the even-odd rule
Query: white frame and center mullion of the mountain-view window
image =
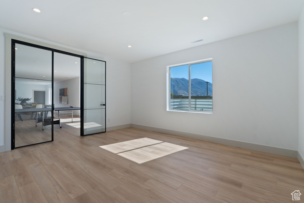
[[(192, 113), (203, 113), (203, 114), (212, 114), (213, 113), (213, 104), (212, 104), (212, 111), (198, 111), (198, 110), (191, 110), (191, 65), (198, 64), (198, 63), (205, 63), (212, 61), (212, 58), (202, 59), (198, 61), (191, 61), (187, 63), (180, 63), (175, 65), (168, 65), (167, 66), (167, 111), (179, 111), (179, 112), (192, 112)], [(189, 65), (189, 110), (182, 111), (182, 110), (171, 110), (171, 73), (170, 68), (182, 66), (182, 65)], [(213, 66), (213, 63), (212, 63)], [(212, 81), (213, 81), (213, 67), (212, 67)], [(213, 86), (213, 85), (212, 85)], [(212, 89), (213, 94), (213, 89)], [(212, 103), (213, 103), (213, 96), (212, 96)]]

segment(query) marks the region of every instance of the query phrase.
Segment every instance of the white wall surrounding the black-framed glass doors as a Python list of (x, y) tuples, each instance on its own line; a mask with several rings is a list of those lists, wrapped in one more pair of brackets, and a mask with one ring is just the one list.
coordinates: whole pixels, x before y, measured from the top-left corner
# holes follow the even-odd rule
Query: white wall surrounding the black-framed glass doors
[[(64, 49), (80, 51), (86, 53), (89, 58), (106, 61), (106, 114), (107, 118), (110, 118), (110, 122), (106, 123), (107, 127), (131, 123), (131, 66), (129, 63), (118, 61), (105, 55), (90, 53), (73, 47), (67, 47), (21, 33), (12, 32), (3, 28), (0, 28), (0, 95), (5, 94), (5, 33), (63, 47)], [(75, 47), (77, 47), (77, 45), (75, 45)], [(106, 52), (106, 50), (104, 52)], [(8, 135), (5, 134), (5, 127), (10, 127), (10, 121), (5, 119), (5, 110), (10, 111), (10, 106), (5, 107), (5, 102), (0, 101), (0, 152), (5, 150), (3, 145), (4, 143), (8, 143), (7, 141), (10, 140), (11, 136), (9, 133)], [(6, 147), (6, 150), (8, 149), (10, 149), (10, 146)]]

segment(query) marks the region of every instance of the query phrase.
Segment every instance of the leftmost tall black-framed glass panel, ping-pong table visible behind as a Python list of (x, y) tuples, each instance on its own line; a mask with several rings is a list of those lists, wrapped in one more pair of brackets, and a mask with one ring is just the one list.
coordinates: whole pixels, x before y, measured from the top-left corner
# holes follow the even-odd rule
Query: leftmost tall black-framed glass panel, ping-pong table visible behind
[(14, 148), (50, 142), (53, 116), (45, 105), (52, 88), (52, 51), (17, 43), (15, 47)]

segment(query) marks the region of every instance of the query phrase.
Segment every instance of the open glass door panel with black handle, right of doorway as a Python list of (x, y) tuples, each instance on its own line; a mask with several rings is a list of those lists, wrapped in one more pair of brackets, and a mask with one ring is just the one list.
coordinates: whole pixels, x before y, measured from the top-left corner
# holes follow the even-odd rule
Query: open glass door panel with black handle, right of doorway
[(105, 132), (105, 61), (84, 58), (83, 135)]

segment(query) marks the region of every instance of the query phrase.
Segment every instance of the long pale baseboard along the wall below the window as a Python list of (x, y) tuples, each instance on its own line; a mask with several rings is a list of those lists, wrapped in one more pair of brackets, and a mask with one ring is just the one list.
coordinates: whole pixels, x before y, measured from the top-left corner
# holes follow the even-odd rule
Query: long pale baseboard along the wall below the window
[(171, 134), (171, 135), (179, 135), (179, 136), (183, 136), (183, 137), (195, 138), (195, 139), (199, 139), (199, 140), (215, 142), (215, 143), (224, 144), (224, 145), (230, 145), (230, 146), (241, 147), (241, 148), (246, 148), (246, 149), (253, 149), (253, 150), (257, 150), (257, 151), (261, 151), (261, 152), (268, 152), (268, 153), (298, 158), (298, 151), (291, 150), (291, 149), (283, 149), (283, 148), (271, 147), (271, 146), (266, 146), (266, 145), (258, 145), (258, 144), (248, 143), (248, 142), (240, 142), (240, 141), (228, 140), (228, 139), (223, 139), (223, 138), (215, 138), (215, 137), (210, 137), (210, 136), (206, 136), (206, 135), (198, 135), (198, 134), (193, 134), (193, 133), (174, 131), (174, 130), (168, 130), (168, 129), (163, 129), (163, 128), (155, 128), (155, 127), (137, 125), (137, 124), (131, 124), (131, 127), (140, 128), (140, 129), (144, 129), (144, 130), (150, 130), (150, 131), (156, 131), (156, 132), (162, 132), (162, 133), (167, 133), (167, 134)]

